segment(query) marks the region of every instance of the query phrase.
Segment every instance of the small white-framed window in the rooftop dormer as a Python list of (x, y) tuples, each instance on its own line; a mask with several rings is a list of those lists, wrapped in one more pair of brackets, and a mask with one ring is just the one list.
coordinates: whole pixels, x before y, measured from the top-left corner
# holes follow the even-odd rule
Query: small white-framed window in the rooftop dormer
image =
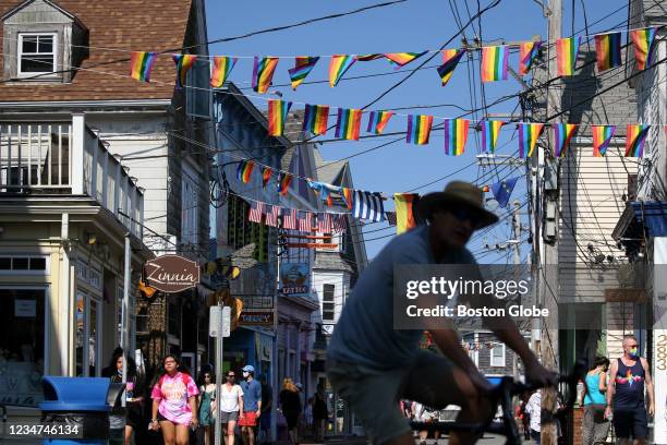
[(19, 75), (54, 73), (58, 67), (57, 34), (19, 34)]

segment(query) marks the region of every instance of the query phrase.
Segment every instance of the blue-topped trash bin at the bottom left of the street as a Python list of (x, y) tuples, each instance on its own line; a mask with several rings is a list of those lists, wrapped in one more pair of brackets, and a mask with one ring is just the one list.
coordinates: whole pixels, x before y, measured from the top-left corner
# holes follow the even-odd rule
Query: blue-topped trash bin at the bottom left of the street
[(122, 392), (122, 384), (110, 390), (109, 378), (47, 375), (41, 380), (41, 423), (59, 426), (59, 431), (69, 429), (75, 434), (75, 438), (45, 438), (43, 445), (107, 444), (109, 409)]

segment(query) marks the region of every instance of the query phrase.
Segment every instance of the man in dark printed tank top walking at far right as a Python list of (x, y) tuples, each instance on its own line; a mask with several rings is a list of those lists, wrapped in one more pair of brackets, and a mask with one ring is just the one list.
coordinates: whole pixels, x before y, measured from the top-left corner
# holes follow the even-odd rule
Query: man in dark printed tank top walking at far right
[[(639, 354), (639, 342), (633, 335), (623, 337), (623, 354), (611, 362), (605, 417), (613, 414), (618, 443), (643, 445), (648, 437), (648, 416), (654, 413), (653, 380), (648, 361)], [(644, 401), (648, 397), (648, 410)]]

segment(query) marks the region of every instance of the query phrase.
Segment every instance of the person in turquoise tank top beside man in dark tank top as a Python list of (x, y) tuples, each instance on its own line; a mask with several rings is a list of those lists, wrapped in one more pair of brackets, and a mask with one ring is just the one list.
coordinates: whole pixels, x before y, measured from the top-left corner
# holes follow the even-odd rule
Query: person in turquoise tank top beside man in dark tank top
[(609, 421), (605, 418), (608, 369), (609, 359), (596, 357), (583, 382), (583, 445), (604, 442), (609, 433)]

